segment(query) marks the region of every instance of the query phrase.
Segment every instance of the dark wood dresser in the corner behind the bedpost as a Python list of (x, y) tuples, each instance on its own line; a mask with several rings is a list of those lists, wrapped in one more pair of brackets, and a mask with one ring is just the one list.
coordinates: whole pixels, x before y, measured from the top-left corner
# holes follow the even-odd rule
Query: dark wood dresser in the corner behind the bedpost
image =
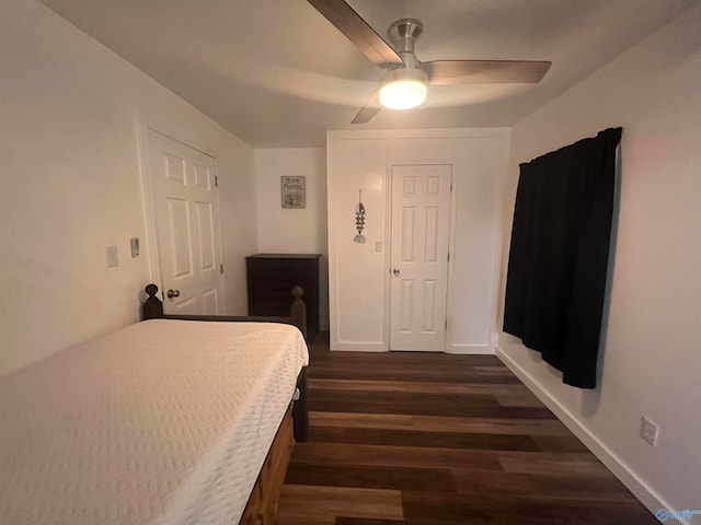
[(290, 290), (304, 289), (307, 339), (319, 332), (319, 259), (321, 254), (256, 254), (245, 258), (249, 315), (289, 315)]

